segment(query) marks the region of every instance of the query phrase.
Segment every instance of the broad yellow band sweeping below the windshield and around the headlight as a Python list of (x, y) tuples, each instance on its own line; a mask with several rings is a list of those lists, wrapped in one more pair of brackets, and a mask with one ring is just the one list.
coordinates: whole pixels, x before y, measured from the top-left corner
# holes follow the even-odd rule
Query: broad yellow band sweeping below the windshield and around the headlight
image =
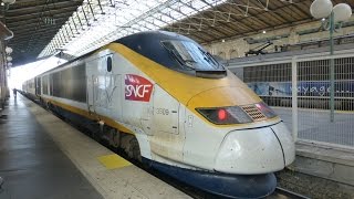
[[(256, 104), (261, 102), (259, 96), (235, 75), (227, 75), (227, 77), (223, 78), (199, 78), (169, 70), (119, 43), (111, 43), (102, 50), (104, 49), (110, 49), (123, 55), (209, 125), (220, 127), (220, 125), (211, 124), (196, 112), (197, 107), (237, 106), (240, 104)], [(192, 97), (194, 100), (191, 101)], [(270, 121), (274, 119), (279, 119), (279, 117)], [(244, 124), (232, 124), (222, 125), (222, 127), (243, 125)]]

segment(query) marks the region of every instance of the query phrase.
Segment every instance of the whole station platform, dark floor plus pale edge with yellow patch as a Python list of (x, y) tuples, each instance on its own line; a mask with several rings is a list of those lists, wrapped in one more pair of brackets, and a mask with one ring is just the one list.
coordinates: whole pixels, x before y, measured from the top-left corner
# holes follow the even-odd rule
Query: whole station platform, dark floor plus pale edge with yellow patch
[(21, 95), (3, 114), (1, 199), (190, 198)]

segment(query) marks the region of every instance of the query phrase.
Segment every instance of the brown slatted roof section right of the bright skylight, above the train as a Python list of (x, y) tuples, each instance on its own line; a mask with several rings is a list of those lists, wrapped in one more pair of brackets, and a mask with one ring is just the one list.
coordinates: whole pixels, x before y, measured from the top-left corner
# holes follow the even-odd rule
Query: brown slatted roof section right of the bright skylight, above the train
[(311, 21), (312, 0), (233, 0), (166, 27), (201, 43)]

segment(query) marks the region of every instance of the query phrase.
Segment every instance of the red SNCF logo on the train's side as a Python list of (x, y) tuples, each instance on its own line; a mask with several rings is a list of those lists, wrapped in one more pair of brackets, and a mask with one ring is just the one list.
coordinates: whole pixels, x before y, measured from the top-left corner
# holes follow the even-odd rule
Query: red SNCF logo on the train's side
[(125, 75), (125, 100), (149, 102), (153, 84), (143, 76)]

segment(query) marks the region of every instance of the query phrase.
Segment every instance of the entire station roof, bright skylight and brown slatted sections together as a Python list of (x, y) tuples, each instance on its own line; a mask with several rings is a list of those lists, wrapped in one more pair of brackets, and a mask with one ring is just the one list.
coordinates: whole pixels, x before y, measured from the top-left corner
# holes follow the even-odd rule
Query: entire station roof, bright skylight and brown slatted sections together
[[(247, 36), (313, 20), (310, 14), (312, 1), (18, 0), (3, 13), (2, 21), (14, 33), (8, 45), (13, 49), (15, 66), (51, 55), (60, 48), (80, 55), (145, 30), (174, 31), (200, 43)], [(341, 2), (332, 1), (333, 4)], [(346, 0), (346, 3), (354, 7), (354, 0)], [(101, 24), (105, 27), (101, 28)], [(87, 33), (88, 29), (95, 28), (101, 30), (98, 34)]]

